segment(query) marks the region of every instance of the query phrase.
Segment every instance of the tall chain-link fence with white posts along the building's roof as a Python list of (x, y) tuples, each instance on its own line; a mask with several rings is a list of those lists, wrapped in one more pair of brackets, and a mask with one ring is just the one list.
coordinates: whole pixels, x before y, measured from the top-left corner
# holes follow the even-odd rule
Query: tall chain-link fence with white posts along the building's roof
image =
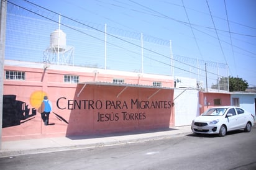
[(228, 91), (227, 65), (172, 54), (170, 40), (14, 4), (7, 4), (5, 57), (162, 74), (174, 76), (175, 81), (192, 78), (199, 88)]

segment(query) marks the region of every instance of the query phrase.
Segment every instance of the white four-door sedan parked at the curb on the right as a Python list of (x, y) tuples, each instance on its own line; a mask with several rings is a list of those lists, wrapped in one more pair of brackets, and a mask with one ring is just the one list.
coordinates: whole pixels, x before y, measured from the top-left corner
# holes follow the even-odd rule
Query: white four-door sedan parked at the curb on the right
[(219, 134), (225, 136), (232, 130), (244, 129), (250, 132), (254, 125), (254, 115), (241, 107), (221, 106), (211, 109), (199, 115), (192, 121), (191, 130), (198, 134)]

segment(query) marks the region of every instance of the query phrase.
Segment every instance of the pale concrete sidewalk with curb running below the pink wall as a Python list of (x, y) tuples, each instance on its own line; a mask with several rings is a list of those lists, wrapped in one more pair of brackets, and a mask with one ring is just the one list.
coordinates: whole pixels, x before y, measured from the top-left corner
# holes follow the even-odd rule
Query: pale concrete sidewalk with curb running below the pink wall
[(140, 141), (172, 138), (188, 135), (191, 126), (173, 127), (165, 130), (150, 130), (139, 133), (115, 133), (113, 135), (71, 136), (32, 140), (2, 141), (0, 158), (22, 154), (48, 153), (53, 151), (76, 150), (101, 146), (121, 145)]

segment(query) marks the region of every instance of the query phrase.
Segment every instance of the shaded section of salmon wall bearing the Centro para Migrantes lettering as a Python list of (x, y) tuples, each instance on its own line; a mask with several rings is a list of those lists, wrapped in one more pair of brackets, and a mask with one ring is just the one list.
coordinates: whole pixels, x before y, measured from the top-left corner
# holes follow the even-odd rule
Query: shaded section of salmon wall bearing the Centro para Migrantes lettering
[[(81, 88), (78, 85), (76, 94)], [(86, 85), (79, 97), (73, 96), (71, 101), (68, 96), (60, 98), (58, 109), (71, 112), (66, 135), (130, 132), (174, 125), (173, 90), (162, 89), (149, 99), (158, 89), (127, 87), (120, 94), (123, 89)]]

